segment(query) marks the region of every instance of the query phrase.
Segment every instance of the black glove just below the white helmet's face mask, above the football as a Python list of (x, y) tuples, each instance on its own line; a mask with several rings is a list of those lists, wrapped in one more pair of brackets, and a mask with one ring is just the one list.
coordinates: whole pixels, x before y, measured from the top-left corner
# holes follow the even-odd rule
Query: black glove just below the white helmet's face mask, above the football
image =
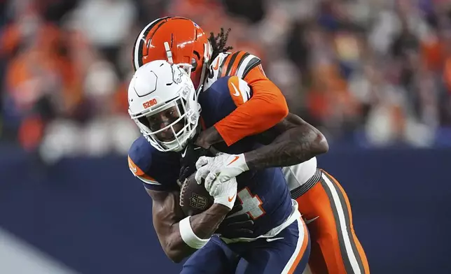
[(179, 181), (185, 182), (196, 171), (196, 161), (201, 156), (207, 156), (208, 150), (198, 147), (193, 140), (189, 140), (185, 150), (181, 152)]

